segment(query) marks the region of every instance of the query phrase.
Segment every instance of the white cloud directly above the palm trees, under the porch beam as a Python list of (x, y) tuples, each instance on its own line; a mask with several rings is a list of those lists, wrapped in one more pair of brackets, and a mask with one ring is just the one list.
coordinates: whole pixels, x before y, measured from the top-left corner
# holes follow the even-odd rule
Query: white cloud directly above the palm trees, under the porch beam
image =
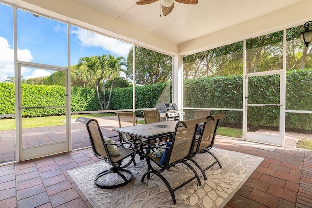
[(130, 43), (122, 42), (114, 38), (108, 38), (80, 28), (72, 31), (72, 33), (78, 36), (82, 46), (101, 47), (104, 50), (117, 54), (118, 56), (127, 57), (130, 47), (132, 46)]

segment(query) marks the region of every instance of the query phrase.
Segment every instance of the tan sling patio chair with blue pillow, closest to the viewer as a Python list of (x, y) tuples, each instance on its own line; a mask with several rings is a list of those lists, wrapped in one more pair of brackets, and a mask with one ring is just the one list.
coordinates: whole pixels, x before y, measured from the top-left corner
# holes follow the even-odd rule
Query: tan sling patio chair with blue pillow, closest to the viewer
[[(201, 182), (200, 182), (197, 172), (190, 164), (187, 163), (187, 160), (190, 157), (190, 154), (192, 154), (192, 151), (194, 149), (195, 134), (196, 134), (198, 124), (202, 122), (206, 122), (206, 121), (207, 120), (205, 118), (197, 118), (197, 119), (191, 119), (191, 120), (186, 120), (186, 121), (179, 121), (176, 124), (176, 130), (172, 138), (172, 141), (167, 142), (166, 146), (157, 146), (154, 144), (142, 142), (140, 150), (141, 150), (142, 155), (146, 158), (148, 171), (142, 176), (141, 182), (144, 181), (146, 176), (147, 176), (147, 179), (149, 179), (151, 173), (157, 175), (167, 186), (174, 204), (176, 204), (176, 196), (174, 192), (177, 189), (180, 189), (181, 187), (191, 182), (195, 178), (198, 181), (198, 185), (201, 186)], [(161, 158), (154, 157), (153, 153), (150, 152), (151, 148), (165, 149), (165, 151), (163, 152)], [(155, 165), (153, 166), (152, 162), (156, 164), (156, 168), (154, 168)], [(185, 181), (184, 183), (182, 183), (175, 189), (173, 189), (170, 186), (167, 179), (161, 173), (164, 172), (165, 170), (169, 170), (170, 167), (173, 167), (179, 163), (183, 163), (186, 166), (188, 166), (193, 171), (195, 176)]]

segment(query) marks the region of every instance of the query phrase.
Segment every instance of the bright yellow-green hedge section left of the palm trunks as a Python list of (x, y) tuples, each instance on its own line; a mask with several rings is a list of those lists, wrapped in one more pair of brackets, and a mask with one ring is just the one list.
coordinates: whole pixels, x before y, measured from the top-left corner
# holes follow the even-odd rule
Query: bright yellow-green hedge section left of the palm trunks
[[(14, 114), (15, 97), (14, 84), (0, 83), (0, 114)], [(83, 87), (72, 87), (72, 111), (98, 110), (98, 98), (96, 91)], [(65, 88), (62, 86), (27, 85), (22, 84), (22, 106), (65, 106)], [(52, 109), (23, 109), (24, 117), (41, 117), (51, 115), (64, 115), (65, 108)]]

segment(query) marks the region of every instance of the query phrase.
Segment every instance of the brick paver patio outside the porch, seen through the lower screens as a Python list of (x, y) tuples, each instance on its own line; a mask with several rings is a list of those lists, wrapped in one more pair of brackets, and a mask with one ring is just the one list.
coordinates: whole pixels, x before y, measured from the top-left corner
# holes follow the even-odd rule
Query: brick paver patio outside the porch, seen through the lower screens
[[(137, 118), (142, 120), (143, 118)], [(97, 118), (101, 125), (103, 134), (107, 137), (117, 136), (118, 133), (111, 131), (112, 128), (118, 127), (117, 116), (99, 117)], [(57, 141), (66, 140), (66, 126), (50, 126), (50, 127), (36, 127), (23, 130), (23, 147), (36, 146), (42, 144), (53, 143)], [(82, 123), (71, 120), (72, 133), (72, 150), (80, 149), (90, 146), (89, 135), (87, 128)], [(258, 130), (257, 132), (265, 132), (276, 134), (274, 131)], [(285, 146), (295, 147), (298, 139), (312, 139), (312, 134), (292, 133), (286, 132)], [(15, 130), (0, 131), (0, 164), (1, 162), (10, 162), (15, 160)]]

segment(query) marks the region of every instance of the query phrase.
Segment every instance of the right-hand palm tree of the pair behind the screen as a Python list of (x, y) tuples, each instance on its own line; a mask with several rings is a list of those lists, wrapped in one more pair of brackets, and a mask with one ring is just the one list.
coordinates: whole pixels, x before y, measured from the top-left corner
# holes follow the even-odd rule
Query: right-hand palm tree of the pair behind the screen
[[(125, 62), (124, 57), (114, 57), (113, 55), (109, 54), (107, 56), (107, 69), (104, 71), (103, 77), (107, 80), (112, 80), (111, 83), (111, 89), (108, 97), (108, 102), (107, 105), (105, 106), (105, 109), (108, 108), (110, 101), (111, 101), (111, 96), (112, 96), (112, 90), (113, 90), (113, 82), (116, 77), (120, 76), (120, 71), (122, 72), (127, 72), (126, 70), (122, 69), (121, 66), (127, 66), (127, 63)], [(103, 78), (103, 83), (104, 83), (104, 78)], [(105, 89), (105, 88), (104, 88)], [(105, 105), (105, 90), (104, 90), (104, 105)]]

